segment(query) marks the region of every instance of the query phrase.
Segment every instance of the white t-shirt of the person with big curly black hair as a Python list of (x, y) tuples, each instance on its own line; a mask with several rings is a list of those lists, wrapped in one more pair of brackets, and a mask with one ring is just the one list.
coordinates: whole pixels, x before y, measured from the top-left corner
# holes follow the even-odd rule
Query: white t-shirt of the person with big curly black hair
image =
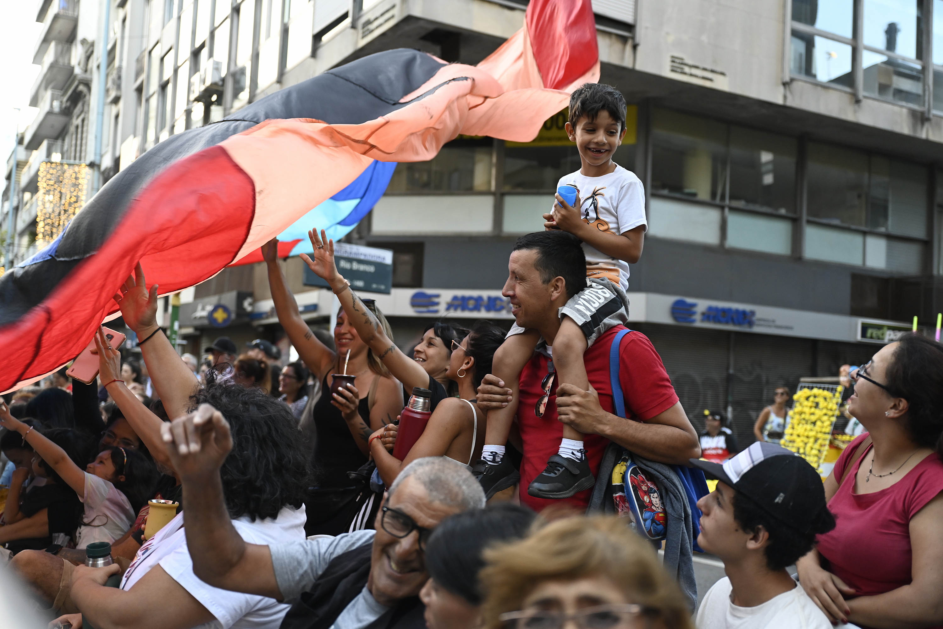
[[(184, 512), (148, 539), (134, 561), (124, 571), (121, 588), (134, 587), (147, 571), (159, 565), (171, 578), (203, 604), (215, 621), (200, 625), (201, 629), (278, 629), (290, 605), (253, 594), (213, 588), (193, 574), (193, 562), (187, 549)], [(233, 520), (240, 537), (251, 544), (273, 544), (305, 539), (305, 506), (284, 507), (278, 517), (249, 521), (248, 517)], [(165, 602), (167, 603), (167, 602)]]

